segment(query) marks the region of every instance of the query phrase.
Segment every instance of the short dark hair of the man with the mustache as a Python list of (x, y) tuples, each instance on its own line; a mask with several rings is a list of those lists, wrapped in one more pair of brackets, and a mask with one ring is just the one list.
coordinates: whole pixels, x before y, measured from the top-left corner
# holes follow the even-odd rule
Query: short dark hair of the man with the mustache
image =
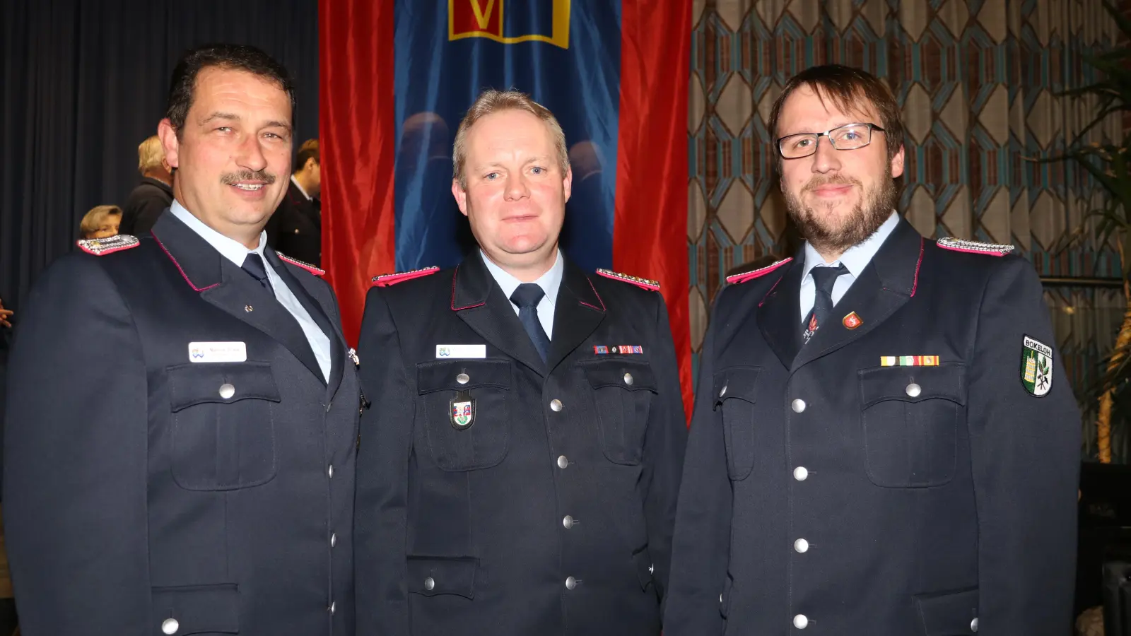
[(291, 117), (294, 118), (294, 80), (291, 79), (286, 67), (267, 53), (247, 44), (205, 44), (185, 52), (173, 69), (165, 117), (169, 118), (178, 136), (192, 106), (197, 76), (209, 67), (242, 70), (275, 83), (291, 98)]

